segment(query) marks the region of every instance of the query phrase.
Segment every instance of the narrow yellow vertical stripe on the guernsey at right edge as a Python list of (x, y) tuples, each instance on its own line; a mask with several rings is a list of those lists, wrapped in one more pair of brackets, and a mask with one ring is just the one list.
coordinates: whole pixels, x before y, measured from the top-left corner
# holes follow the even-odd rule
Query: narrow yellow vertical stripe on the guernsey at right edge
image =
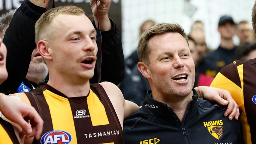
[(245, 113), (245, 103), (244, 103), (244, 95), (243, 95), (243, 65), (239, 65), (237, 66), (237, 70), (238, 70), (238, 74), (239, 74), (239, 78), (241, 81), (241, 86), (242, 86), (242, 93), (241, 93), (241, 101), (242, 101), (242, 105), (241, 105), (241, 109), (240, 111), (241, 116), (240, 116), (240, 120), (241, 120), (241, 124), (242, 124), (242, 128), (243, 128), (243, 140), (245, 144), (252, 144), (251, 138), (250, 138), (250, 127), (247, 121), (247, 116)]

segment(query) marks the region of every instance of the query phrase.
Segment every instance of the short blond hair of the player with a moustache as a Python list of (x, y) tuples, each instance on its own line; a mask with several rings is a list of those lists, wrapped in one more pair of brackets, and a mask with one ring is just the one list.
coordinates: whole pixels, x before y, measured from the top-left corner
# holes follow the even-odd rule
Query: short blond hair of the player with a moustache
[(82, 15), (85, 14), (82, 8), (76, 7), (76, 6), (60, 6), (53, 9), (50, 9), (49, 11), (46, 11), (41, 15), (39, 20), (35, 23), (35, 42), (36, 44), (41, 40), (40, 35), (42, 31), (45, 31), (45, 28), (50, 25), (52, 20), (60, 15), (60, 14), (66, 14), (66, 15)]

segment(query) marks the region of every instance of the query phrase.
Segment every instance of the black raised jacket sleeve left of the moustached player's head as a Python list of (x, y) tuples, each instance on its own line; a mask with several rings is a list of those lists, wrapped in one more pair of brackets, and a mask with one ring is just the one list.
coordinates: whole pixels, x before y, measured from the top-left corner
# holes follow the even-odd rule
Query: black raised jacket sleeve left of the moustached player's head
[(7, 47), (6, 68), (9, 76), (0, 85), (1, 92), (14, 93), (26, 77), (31, 54), (36, 46), (35, 22), (45, 11), (45, 8), (26, 0), (13, 15), (3, 39)]

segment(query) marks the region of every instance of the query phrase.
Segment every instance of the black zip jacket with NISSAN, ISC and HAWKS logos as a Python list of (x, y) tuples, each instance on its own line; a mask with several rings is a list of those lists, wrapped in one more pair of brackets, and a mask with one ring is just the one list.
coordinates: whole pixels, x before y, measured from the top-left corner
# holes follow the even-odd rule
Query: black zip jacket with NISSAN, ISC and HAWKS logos
[(193, 101), (180, 122), (149, 91), (142, 108), (124, 121), (124, 144), (242, 144), (240, 122), (228, 120), (223, 116), (225, 108), (198, 99), (193, 92)]

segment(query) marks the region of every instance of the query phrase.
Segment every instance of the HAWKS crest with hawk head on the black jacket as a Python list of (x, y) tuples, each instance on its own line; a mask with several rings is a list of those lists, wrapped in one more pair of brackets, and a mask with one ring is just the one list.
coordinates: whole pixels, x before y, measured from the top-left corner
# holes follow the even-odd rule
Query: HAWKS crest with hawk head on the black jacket
[(204, 127), (207, 127), (209, 133), (217, 140), (220, 140), (223, 135), (222, 125), (223, 125), (222, 120), (204, 122)]

